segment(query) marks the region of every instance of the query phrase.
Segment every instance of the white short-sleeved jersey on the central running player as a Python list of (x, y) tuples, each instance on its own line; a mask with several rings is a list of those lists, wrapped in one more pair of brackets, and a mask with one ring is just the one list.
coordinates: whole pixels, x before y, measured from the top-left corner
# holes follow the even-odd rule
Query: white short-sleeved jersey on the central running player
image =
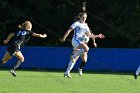
[(89, 37), (86, 33), (89, 32), (89, 27), (86, 23), (80, 23), (79, 21), (77, 21), (71, 25), (71, 28), (74, 29), (73, 39), (79, 41), (79, 43), (88, 43)]

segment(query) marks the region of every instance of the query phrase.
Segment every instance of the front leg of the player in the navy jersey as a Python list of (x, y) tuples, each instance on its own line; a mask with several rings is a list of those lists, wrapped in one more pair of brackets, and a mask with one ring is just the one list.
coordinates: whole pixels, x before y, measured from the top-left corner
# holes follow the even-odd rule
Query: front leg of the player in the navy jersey
[(24, 56), (22, 55), (21, 51), (18, 51), (15, 53), (15, 57), (18, 59), (17, 63), (15, 66), (10, 70), (10, 73), (13, 76), (16, 76), (15, 70), (21, 65), (21, 63), (24, 61)]

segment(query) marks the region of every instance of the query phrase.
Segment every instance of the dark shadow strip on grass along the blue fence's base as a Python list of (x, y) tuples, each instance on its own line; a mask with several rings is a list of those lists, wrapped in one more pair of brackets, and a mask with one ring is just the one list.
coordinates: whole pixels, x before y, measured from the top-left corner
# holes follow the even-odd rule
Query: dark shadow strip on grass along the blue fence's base
[[(0, 71), (10, 70), (8, 67), (0, 68)], [(33, 72), (58, 72), (64, 73), (66, 69), (44, 69), (44, 68), (18, 68), (17, 71), (33, 71)], [(78, 70), (74, 69), (72, 73), (78, 73)], [(112, 71), (112, 70), (83, 70), (83, 73), (86, 74), (114, 74), (114, 75), (132, 75), (133, 71)]]

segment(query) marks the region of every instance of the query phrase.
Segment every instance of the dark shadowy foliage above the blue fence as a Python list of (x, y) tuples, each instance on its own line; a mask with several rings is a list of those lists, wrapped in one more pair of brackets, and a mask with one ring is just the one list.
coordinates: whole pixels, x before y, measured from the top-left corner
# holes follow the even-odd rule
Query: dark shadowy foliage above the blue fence
[(140, 47), (139, 0), (1, 0), (0, 41), (10, 32), (18, 30), (19, 23), (30, 20), (33, 31), (46, 33), (48, 38), (32, 38), (28, 45), (71, 46), (72, 34), (65, 43), (59, 39), (73, 23), (77, 13), (82, 11), (83, 1), (87, 4), (89, 27), (95, 34), (106, 35), (104, 40), (97, 39), (99, 47)]

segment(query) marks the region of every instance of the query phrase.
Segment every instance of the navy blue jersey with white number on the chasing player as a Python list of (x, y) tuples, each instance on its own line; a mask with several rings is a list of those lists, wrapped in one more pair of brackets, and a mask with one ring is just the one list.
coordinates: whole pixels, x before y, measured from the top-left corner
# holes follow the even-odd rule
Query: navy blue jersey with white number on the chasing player
[(16, 43), (20, 46), (24, 46), (34, 32), (28, 30), (20, 30), (15, 32), (15, 36), (10, 40), (9, 43)]

